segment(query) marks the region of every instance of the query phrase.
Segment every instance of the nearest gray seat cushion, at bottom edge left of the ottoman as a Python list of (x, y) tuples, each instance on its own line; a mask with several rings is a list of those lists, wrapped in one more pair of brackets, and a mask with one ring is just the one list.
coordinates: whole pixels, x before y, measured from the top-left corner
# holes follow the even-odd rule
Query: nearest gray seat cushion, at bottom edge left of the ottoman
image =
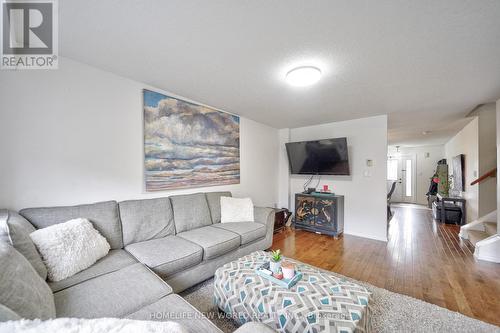
[(210, 320), (204, 317), (181, 296), (172, 294), (150, 304), (126, 318), (134, 320), (175, 321), (189, 333), (220, 333)]

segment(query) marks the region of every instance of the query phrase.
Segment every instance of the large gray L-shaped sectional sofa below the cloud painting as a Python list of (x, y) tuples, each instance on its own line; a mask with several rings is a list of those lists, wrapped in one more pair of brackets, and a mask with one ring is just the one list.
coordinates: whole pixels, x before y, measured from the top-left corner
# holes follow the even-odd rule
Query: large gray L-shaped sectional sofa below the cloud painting
[[(181, 318), (174, 316), (174, 321), (190, 332), (220, 332), (176, 293), (210, 278), (217, 267), (229, 261), (269, 248), (274, 224), (273, 209), (259, 207), (254, 211), (255, 222), (220, 223), (221, 196), (231, 193), (27, 208), (19, 213), (4, 210), (0, 219), (5, 219), (3, 223), (16, 232), (16, 238), (9, 239), (11, 249), (4, 246), (10, 244), (2, 244), (0, 261), (2, 267), (9, 263), (11, 267), (29, 266), (26, 272), (30, 273), (23, 275), (34, 275), (29, 276), (31, 280), (38, 275), (45, 284), (47, 272), (30, 244), (29, 233), (73, 218), (88, 218), (108, 240), (111, 251), (88, 269), (62, 281), (48, 282), (53, 300), (47, 302), (48, 306), (53, 302), (55, 317), (165, 321), (169, 320), (165, 314), (183, 313)], [(22, 255), (12, 255), (13, 251)], [(11, 273), (0, 274), (0, 282), (16, 278), (15, 272)], [(12, 297), (33, 299), (32, 296), (7, 295), (11, 301)], [(2, 297), (5, 295), (0, 297), (0, 303)], [(37, 317), (15, 307), (0, 304), (0, 319), (14, 314)], [(5, 315), (6, 311), (12, 311), (12, 316)]]

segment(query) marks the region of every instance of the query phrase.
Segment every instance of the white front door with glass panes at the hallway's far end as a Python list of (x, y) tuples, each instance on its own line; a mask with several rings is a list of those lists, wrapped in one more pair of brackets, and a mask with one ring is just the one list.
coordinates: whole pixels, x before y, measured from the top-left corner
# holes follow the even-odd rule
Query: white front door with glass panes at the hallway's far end
[(387, 186), (396, 182), (391, 202), (416, 203), (416, 164), (414, 155), (389, 156), (387, 160)]

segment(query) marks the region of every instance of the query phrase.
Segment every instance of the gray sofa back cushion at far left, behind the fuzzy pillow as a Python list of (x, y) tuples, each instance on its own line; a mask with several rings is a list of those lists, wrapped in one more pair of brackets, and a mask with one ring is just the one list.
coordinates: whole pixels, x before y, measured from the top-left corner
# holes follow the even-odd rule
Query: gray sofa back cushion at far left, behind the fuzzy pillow
[(0, 240), (14, 246), (45, 280), (47, 267), (30, 238), (30, 234), (35, 230), (35, 227), (18, 213), (6, 209), (0, 210)]

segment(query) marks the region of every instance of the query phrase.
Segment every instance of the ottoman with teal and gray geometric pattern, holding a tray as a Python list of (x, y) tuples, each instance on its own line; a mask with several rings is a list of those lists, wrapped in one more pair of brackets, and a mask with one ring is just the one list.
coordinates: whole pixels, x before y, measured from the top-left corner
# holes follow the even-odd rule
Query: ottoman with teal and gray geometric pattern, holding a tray
[[(303, 277), (291, 289), (255, 273), (269, 260), (263, 251), (215, 272), (214, 302), (240, 323), (258, 321), (278, 332), (369, 332), (371, 293), (319, 268), (293, 261)], [(257, 333), (257, 332), (256, 332)]]

